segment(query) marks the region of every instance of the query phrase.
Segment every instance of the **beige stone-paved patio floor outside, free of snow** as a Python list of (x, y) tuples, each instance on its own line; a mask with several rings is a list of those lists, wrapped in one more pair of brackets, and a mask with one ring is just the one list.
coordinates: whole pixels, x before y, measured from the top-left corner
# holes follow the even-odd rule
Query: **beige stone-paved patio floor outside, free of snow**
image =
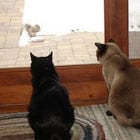
[(53, 51), (55, 65), (97, 63), (94, 42), (103, 42), (100, 32), (71, 32), (46, 35), (43, 42), (19, 47), (22, 33), (23, 0), (0, 0), (0, 68), (30, 66), (30, 52), (46, 56)]

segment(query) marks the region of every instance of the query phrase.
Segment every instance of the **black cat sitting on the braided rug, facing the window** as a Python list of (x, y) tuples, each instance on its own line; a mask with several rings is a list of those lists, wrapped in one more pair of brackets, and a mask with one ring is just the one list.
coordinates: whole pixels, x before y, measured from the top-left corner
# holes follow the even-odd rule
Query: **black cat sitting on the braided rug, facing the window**
[(52, 62), (47, 57), (31, 56), (33, 93), (28, 107), (28, 120), (35, 140), (70, 140), (75, 121), (68, 91), (60, 83)]

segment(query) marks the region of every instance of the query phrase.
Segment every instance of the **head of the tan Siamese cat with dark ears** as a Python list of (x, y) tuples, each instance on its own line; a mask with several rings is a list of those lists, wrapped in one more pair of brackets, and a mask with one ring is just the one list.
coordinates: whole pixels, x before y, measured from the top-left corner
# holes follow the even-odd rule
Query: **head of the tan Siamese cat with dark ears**
[(122, 53), (119, 46), (112, 39), (110, 39), (105, 44), (95, 43), (95, 46), (97, 47), (96, 57), (101, 64), (104, 63), (113, 55)]

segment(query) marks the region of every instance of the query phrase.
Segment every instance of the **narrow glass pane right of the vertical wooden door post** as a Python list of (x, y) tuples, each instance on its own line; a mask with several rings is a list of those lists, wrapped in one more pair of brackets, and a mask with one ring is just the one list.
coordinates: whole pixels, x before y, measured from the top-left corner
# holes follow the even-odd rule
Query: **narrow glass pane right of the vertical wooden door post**
[(140, 5), (129, 0), (129, 58), (140, 58)]

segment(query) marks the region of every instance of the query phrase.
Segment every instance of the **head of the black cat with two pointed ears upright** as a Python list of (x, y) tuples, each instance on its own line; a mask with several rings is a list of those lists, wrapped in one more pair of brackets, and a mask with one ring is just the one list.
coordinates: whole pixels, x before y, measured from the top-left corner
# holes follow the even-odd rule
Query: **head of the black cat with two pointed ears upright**
[(53, 53), (51, 52), (46, 57), (37, 57), (33, 53), (30, 53), (32, 76), (45, 77), (46, 75), (57, 75), (52, 62), (52, 55)]

